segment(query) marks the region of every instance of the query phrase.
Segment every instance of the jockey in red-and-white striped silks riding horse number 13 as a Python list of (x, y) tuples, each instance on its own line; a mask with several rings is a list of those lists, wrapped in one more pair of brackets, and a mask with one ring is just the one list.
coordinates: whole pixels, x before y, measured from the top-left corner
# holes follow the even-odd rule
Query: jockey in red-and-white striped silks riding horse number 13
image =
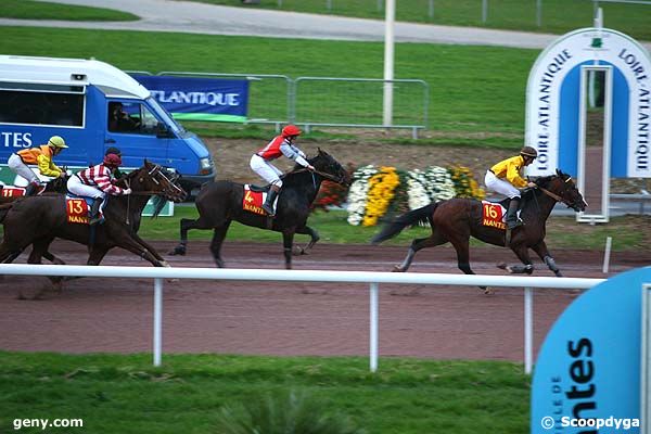
[(67, 189), (71, 193), (95, 200), (90, 209), (89, 225), (100, 221), (100, 205), (106, 194), (114, 196), (131, 194), (131, 189), (123, 189), (113, 183), (112, 175), (120, 164), (119, 155), (108, 154), (104, 156), (102, 164), (81, 170), (68, 179)]

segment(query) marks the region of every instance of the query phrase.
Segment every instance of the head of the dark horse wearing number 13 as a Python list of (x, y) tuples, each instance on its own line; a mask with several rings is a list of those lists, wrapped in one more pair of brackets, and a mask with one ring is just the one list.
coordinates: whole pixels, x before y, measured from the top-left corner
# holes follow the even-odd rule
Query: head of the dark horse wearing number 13
[(127, 175), (127, 179), (135, 192), (146, 192), (173, 202), (181, 202), (187, 195), (178, 184), (178, 176), (146, 159), (144, 166)]

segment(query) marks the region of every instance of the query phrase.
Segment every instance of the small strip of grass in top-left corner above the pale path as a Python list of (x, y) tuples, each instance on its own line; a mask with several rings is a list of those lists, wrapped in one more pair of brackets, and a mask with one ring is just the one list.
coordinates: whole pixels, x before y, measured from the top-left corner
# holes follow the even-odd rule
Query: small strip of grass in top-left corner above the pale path
[(18, 20), (136, 21), (128, 12), (31, 0), (2, 0), (0, 17)]

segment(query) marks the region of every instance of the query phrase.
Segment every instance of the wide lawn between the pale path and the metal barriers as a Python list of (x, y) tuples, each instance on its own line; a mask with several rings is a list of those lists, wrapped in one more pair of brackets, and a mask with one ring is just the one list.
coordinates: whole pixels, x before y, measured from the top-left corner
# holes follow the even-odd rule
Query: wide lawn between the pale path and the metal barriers
[[(382, 78), (383, 71), (380, 42), (29, 27), (3, 27), (2, 31), (0, 52), (5, 54), (94, 56), (125, 71), (281, 74), (292, 78)], [(419, 142), (520, 146), (525, 85), (537, 54), (537, 50), (499, 47), (397, 44), (396, 78), (418, 78), (430, 85), (429, 129), (437, 133)], [(283, 92), (261, 93), (251, 101), (252, 110), (278, 105), (284, 98)], [(191, 124), (188, 127), (193, 129)], [(204, 135), (220, 135), (241, 127), (202, 128)], [(482, 135), (471, 136), (476, 132)]]

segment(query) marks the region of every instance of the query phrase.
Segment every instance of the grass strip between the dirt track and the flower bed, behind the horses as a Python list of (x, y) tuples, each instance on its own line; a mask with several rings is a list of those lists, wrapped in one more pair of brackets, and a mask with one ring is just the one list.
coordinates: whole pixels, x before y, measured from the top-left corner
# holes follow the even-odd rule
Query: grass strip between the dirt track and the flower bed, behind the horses
[[(144, 217), (138, 233), (144, 240), (178, 240), (179, 219), (196, 218), (197, 215), (194, 206), (177, 206), (175, 207), (174, 217), (158, 217), (157, 219)], [(346, 222), (346, 216), (347, 214), (343, 210), (331, 210), (329, 213), (316, 212), (309, 217), (308, 225), (319, 231), (321, 243), (330, 244), (368, 244), (371, 238), (380, 231), (381, 226), (350, 226)], [(609, 225), (589, 226), (576, 224), (574, 217), (552, 216), (547, 224), (547, 237), (545, 241), (552, 250), (603, 250), (605, 238), (612, 237), (613, 251), (648, 250), (649, 241), (651, 240), (646, 234), (640, 237), (640, 227), (649, 227), (648, 217), (615, 217)], [(430, 229), (426, 228), (408, 229), (384, 244), (408, 246), (414, 238), (427, 237), (430, 233)], [(188, 234), (189, 240), (209, 241), (213, 237), (213, 231), (191, 230)], [(282, 235), (279, 232), (233, 222), (228, 231), (227, 240), (281, 243)], [(296, 235), (295, 238), (296, 243), (306, 243), (307, 241), (309, 241), (309, 237), (307, 235)], [(471, 243), (475, 246), (486, 245), (476, 240), (471, 241)], [(447, 244), (439, 248), (452, 247)]]

